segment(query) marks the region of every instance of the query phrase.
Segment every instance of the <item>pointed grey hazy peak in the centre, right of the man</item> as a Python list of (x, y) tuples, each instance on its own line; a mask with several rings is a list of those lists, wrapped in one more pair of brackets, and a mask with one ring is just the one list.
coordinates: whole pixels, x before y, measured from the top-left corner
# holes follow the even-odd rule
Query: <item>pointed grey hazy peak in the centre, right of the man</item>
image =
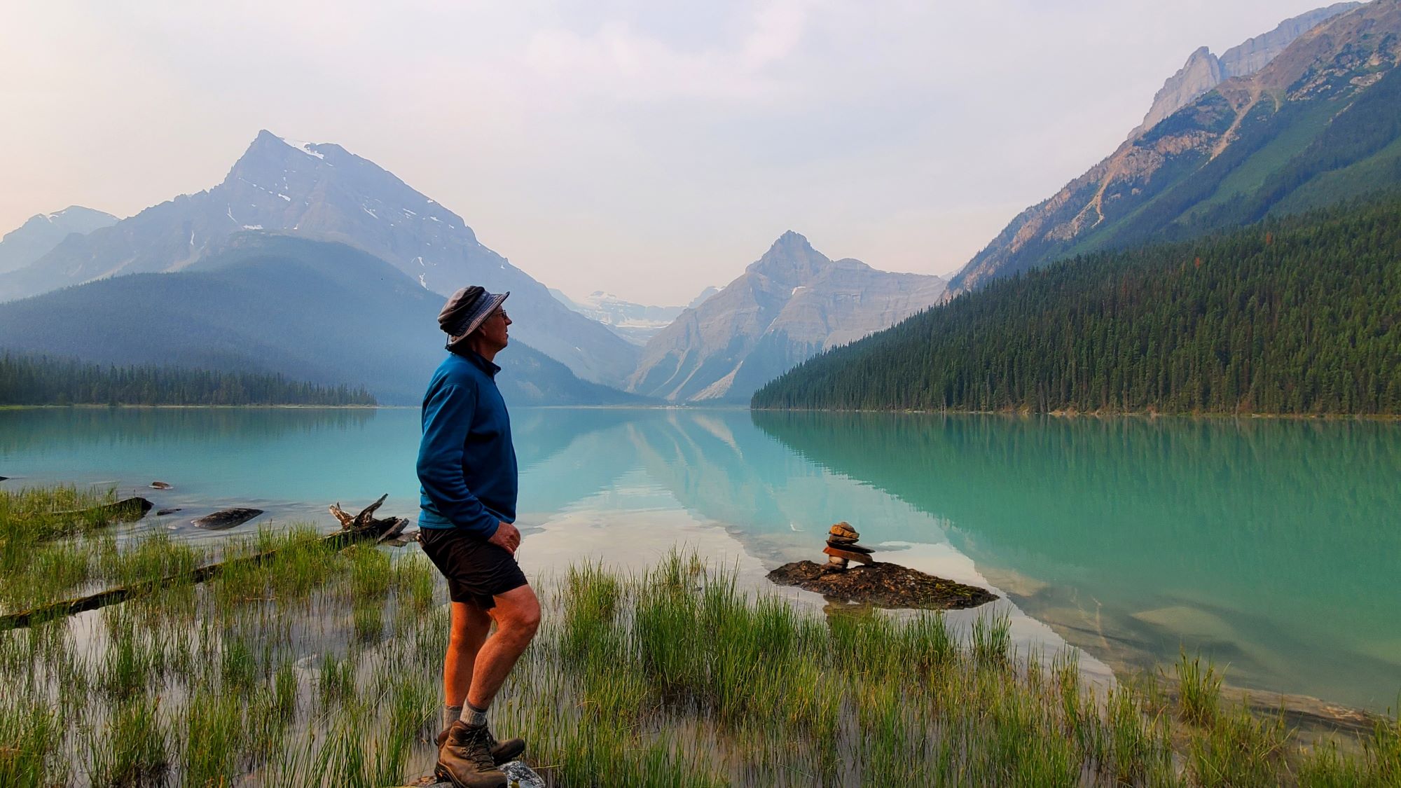
[(685, 310), (642, 352), (629, 390), (671, 401), (747, 402), (814, 353), (940, 300), (944, 280), (831, 261), (785, 233), (743, 276)]

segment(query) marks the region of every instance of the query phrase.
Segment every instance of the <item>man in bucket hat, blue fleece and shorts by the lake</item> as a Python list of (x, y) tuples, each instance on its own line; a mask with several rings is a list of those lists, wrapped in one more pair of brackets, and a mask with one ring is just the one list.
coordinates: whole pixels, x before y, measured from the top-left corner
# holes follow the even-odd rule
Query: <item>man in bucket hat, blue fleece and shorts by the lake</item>
[(419, 540), (453, 600), (436, 773), (458, 788), (506, 785), (497, 767), (524, 752), (520, 739), (492, 736), (486, 711), (539, 627), (539, 600), (516, 564), (516, 449), (495, 380), (511, 324), (506, 296), (453, 293), (439, 314), (448, 356), (423, 395)]

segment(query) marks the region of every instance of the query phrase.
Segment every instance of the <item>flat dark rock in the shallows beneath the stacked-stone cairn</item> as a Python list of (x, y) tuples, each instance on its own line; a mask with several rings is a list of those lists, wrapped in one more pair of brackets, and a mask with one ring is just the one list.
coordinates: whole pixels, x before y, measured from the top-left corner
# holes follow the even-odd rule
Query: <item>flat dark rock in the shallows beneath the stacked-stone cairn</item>
[(846, 571), (794, 561), (773, 569), (768, 578), (780, 586), (817, 592), (828, 602), (857, 602), (887, 609), (961, 610), (998, 599), (998, 595), (978, 586), (880, 561)]

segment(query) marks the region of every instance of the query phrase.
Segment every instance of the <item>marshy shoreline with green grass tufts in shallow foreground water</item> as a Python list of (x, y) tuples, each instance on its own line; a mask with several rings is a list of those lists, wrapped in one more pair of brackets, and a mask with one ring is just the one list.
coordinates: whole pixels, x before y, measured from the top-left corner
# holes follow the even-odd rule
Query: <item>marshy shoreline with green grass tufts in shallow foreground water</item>
[[(441, 579), (413, 547), (311, 526), (217, 550), (116, 538), (0, 491), (6, 611), (276, 548), (202, 585), (0, 632), (6, 785), (394, 785), (432, 770)], [(76, 526), (76, 527), (74, 527)], [(69, 534), (67, 531), (76, 530)], [(217, 554), (217, 555), (216, 555)], [(1182, 655), (1087, 686), (1073, 649), (1019, 653), (1005, 616), (824, 616), (672, 552), (643, 572), (546, 578), (546, 623), (493, 707), (552, 785), (1386, 785), (1401, 726), (1300, 736)]]

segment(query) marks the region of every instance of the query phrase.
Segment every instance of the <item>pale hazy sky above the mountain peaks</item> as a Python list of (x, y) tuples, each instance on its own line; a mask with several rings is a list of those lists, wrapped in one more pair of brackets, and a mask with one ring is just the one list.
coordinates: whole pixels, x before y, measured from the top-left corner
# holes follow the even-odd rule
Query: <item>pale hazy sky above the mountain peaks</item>
[(685, 303), (785, 230), (958, 269), (1163, 80), (1321, 0), (0, 0), (0, 233), (335, 142), (572, 296)]

